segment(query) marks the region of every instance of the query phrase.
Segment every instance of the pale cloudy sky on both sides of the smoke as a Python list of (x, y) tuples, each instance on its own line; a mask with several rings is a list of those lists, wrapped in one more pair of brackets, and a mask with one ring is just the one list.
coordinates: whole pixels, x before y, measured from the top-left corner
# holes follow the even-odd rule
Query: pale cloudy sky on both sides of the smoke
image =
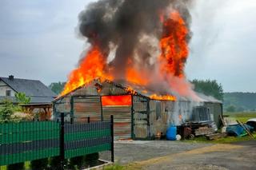
[[(66, 81), (88, 46), (78, 14), (94, 0), (1, 0), (0, 77)], [(194, 0), (186, 76), (256, 92), (256, 1)]]

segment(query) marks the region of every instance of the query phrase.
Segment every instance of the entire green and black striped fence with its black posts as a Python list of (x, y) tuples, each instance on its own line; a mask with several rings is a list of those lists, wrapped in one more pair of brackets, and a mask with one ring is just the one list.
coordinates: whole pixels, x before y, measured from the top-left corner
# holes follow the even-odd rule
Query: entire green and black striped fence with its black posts
[(113, 116), (110, 121), (65, 123), (26, 121), (0, 124), (0, 166), (60, 156), (64, 160), (111, 151), (114, 162)]

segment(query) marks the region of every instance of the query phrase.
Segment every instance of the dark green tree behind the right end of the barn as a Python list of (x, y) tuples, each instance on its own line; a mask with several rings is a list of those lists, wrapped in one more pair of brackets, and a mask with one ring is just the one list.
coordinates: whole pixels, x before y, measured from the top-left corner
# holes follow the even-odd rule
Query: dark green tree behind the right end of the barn
[(204, 93), (206, 96), (212, 96), (220, 101), (223, 101), (222, 84), (218, 84), (216, 80), (197, 80), (191, 81), (194, 85), (194, 90), (198, 93)]

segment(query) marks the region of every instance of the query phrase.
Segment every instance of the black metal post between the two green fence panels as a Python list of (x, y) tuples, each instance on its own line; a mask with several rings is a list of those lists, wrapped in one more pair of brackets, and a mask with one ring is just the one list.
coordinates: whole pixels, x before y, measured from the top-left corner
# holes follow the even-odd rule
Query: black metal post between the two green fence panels
[(61, 169), (64, 170), (65, 145), (64, 145), (64, 113), (61, 113), (61, 132), (59, 138)]

